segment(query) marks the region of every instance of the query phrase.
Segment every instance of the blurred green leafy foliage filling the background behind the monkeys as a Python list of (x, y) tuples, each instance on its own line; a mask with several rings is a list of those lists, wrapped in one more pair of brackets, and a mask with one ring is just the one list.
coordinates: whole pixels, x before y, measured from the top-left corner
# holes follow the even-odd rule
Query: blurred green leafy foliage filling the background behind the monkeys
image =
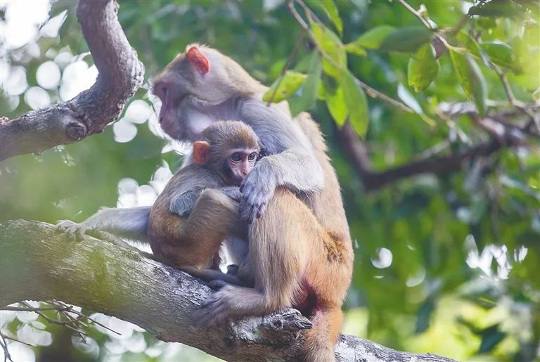
[[(309, 110), (321, 124), (355, 240), (344, 332), (458, 360), (534, 361), (540, 341), (538, 138), (464, 160), (460, 172), (417, 174), (368, 193), (346, 156), (340, 128), (352, 124), (373, 172), (383, 172), (489, 141), (471, 112), (512, 115), (507, 121), (516, 127), (527, 122), (522, 109), (532, 109), (540, 90), (537, 2), (410, 1), (416, 13), (401, 1), (292, 5), (297, 17), (284, 1), (122, 0), (119, 16), (147, 77), (186, 44), (210, 44), (272, 84), (265, 100), (287, 99), (293, 113)], [(63, 81), (44, 89), (53, 103), (70, 80), (68, 65), (91, 65), (72, 4), (59, 2), (51, 16), (65, 10), (58, 37), (10, 49), (5, 58), (11, 70), (23, 67), (30, 86), (39, 86), (40, 65), (56, 63)], [(290, 57), (297, 35), (304, 42)], [(62, 53), (70, 54), (67, 62)], [(33, 103), (27, 88), (14, 91), (8, 84), (1, 109), (13, 118)], [(133, 102), (151, 109), (153, 101), (141, 89)], [(0, 219), (79, 221), (101, 206), (151, 202), (169, 165), (174, 170), (179, 160), (170, 152), (174, 145), (156, 137), (153, 112), (139, 122), (130, 107), (101, 135), (1, 164)], [(122, 130), (136, 136), (122, 138)], [(15, 318), (6, 328), (15, 333), (24, 324)], [(60, 343), (58, 328), (46, 328)], [(101, 352), (74, 348), (88, 361), (106, 358), (104, 346), (113, 337), (91, 333)], [(37, 347), (37, 354), (45, 348)], [(125, 353), (126, 361), (159, 360)]]

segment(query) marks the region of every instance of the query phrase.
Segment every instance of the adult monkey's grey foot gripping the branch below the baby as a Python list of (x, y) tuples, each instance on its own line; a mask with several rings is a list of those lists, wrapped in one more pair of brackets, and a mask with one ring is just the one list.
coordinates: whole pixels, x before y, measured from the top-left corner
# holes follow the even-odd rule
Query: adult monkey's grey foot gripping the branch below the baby
[(198, 328), (210, 328), (221, 325), (227, 319), (233, 318), (234, 301), (238, 288), (225, 285), (218, 292), (213, 292), (200, 309), (193, 313), (193, 325)]

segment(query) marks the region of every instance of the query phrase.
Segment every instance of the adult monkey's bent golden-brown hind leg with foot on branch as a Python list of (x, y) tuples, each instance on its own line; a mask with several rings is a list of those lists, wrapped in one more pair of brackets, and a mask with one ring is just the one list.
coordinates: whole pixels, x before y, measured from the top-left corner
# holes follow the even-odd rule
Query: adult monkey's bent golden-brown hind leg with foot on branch
[[(285, 198), (283, 193), (287, 193)], [(195, 313), (195, 324), (209, 326), (223, 323), (227, 318), (260, 316), (293, 306), (309, 256), (307, 247), (319, 238), (309, 233), (309, 222), (313, 220), (304, 221), (302, 214), (314, 219), (292, 193), (276, 190), (266, 213), (249, 226), (248, 259), (255, 289), (226, 286), (214, 292), (204, 308)]]

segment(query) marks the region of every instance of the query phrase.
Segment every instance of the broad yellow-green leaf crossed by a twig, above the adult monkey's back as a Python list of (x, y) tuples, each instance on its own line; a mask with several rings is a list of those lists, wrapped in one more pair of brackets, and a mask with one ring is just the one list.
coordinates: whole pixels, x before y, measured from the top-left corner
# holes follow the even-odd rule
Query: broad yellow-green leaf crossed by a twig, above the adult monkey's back
[[(329, 62), (323, 58), (323, 70), (333, 77), (339, 77), (340, 68), (347, 68), (347, 53), (341, 39), (324, 25), (311, 20), (311, 32), (320, 49), (333, 60)], [(335, 63), (335, 64), (334, 64)]]

